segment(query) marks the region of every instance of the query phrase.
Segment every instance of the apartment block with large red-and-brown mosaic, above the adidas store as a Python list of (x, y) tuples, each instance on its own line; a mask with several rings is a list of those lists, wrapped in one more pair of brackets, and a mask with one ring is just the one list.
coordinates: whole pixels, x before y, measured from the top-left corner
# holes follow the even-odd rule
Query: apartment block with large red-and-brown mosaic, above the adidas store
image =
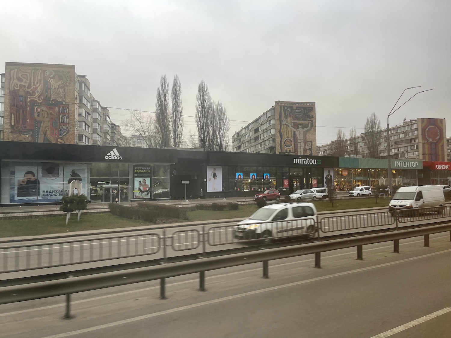
[(110, 143), (109, 112), (104, 123), (104, 108), (74, 65), (7, 62), (2, 81), (5, 141)]

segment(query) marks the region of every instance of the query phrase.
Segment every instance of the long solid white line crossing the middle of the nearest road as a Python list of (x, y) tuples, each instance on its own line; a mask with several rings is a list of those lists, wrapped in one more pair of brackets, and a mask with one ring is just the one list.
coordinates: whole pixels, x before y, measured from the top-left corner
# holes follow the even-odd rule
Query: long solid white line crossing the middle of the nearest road
[[(133, 323), (133, 322), (136, 322), (138, 320), (148, 319), (148, 318), (152, 318), (152, 317), (156, 317), (156, 316), (160, 316), (160, 315), (167, 315), (167, 314), (174, 313), (174, 312), (189, 310), (189, 309), (193, 309), (193, 308), (196, 308), (196, 307), (199, 307), (199, 306), (215, 304), (215, 303), (219, 303), (219, 302), (222, 302), (222, 301), (230, 301), (232, 299), (252, 296), (252, 295), (256, 295), (256, 294), (263, 293), (263, 292), (269, 292), (269, 291), (279, 290), (279, 289), (282, 289), (282, 288), (288, 288), (288, 287), (291, 287), (291, 286), (301, 285), (301, 284), (305, 284), (305, 283), (316, 282), (318, 280), (329, 279), (329, 278), (333, 278), (333, 277), (344, 276), (344, 275), (347, 275), (347, 274), (354, 274), (356, 272), (382, 268), (384, 266), (390, 266), (390, 265), (395, 265), (395, 264), (398, 264), (398, 263), (409, 262), (411, 260), (417, 260), (417, 259), (420, 259), (420, 258), (436, 256), (436, 255), (439, 255), (439, 254), (442, 254), (442, 253), (446, 253), (446, 252), (451, 252), (451, 249), (444, 250), (444, 251), (439, 251), (439, 252), (434, 252), (434, 253), (430, 253), (430, 254), (423, 255), (423, 256), (411, 257), (411, 258), (407, 258), (407, 259), (404, 259), (404, 260), (397, 260), (395, 262), (390, 262), (390, 263), (385, 263), (385, 264), (380, 264), (380, 265), (374, 265), (374, 266), (368, 266), (366, 268), (354, 269), (354, 270), (350, 270), (350, 271), (340, 272), (340, 273), (337, 273), (337, 274), (330, 274), (330, 275), (327, 275), (327, 276), (316, 277), (316, 278), (312, 278), (312, 279), (306, 279), (306, 280), (302, 280), (302, 281), (299, 281), (299, 282), (277, 285), (277, 286), (273, 286), (271, 288), (265, 288), (265, 289), (250, 291), (250, 292), (239, 293), (238, 295), (217, 298), (217, 299), (213, 299), (211, 301), (202, 301), (202, 302), (196, 303), (196, 304), (191, 304), (191, 305), (187, 305), (187, 306), (180, 306), (180, 307), (176, 307), (174, 309), (169, 309), (169, 310), (165, 310), (165, 311), (150, 313), (148, 315), (142, 315), (142, 316), (129, 318), (129, 319), (125, 319), (125, 320), (119, 320), (119, 321), (108, 323), (108, 324), (92, 326), (92, 327), (86, 328), (86, 329), (80, 329), (80, 330), (75, 330), (75, 331), (55, 334), (53, 336), (47, 336), (47, 337), (44, 337), (44, 338), (64, 338), (64, 337), (74, 336), (74, 335), (80, 334), (80, 333), (92, 332), (92, 331), (106, 329), (106, 328), (110, 328), (110, 327), (118, 326), (118, 325), (122, 325), (122, 324)], [(381, 337), (383, 337), (383, 336), (381, 336)], [(381, 338), (381, 337), (378, 337), (378, 338)]]

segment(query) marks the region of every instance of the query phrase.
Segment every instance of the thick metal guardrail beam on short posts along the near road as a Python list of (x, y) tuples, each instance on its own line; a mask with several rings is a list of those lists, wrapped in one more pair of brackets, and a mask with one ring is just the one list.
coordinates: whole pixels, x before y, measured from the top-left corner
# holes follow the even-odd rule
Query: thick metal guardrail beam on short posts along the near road
[(315, 254), (315, 267), (319, 268), (321, 267), (321, 252), (357, 247), (357, 259), (363, 259), (362, 247), (364, 245), (393, 241), (394, 252), (399, 253), (400, 239), (424, 236), (424, 246), (429, 246), (430, 234), (442, 233), (445, 231), (450, 231), (451, 233), (451, 224), (448, 223), (425, 228), (400, 230), (390, 233), (379, 233), (326, 242), (279, 247), (153, 267), (120, 270), (68, 279), (9, 286), (0, 288), (0, 304), (65, 295), (66, 313), (64, 317), (71, 318), (70, 294), (72, 293), (160, 279), (160, 296), (161, 298), (166, 298), (166, 278), (170, 277), (199, 273), (199, 290), (205, 291), (205, 271), (263, 262), (263, 277), (268, 278), (269, 260)]

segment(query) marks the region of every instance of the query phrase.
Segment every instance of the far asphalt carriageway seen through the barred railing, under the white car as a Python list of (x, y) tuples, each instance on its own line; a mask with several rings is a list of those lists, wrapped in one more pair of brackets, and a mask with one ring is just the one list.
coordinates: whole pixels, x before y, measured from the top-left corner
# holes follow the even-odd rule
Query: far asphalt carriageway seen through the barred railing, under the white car
[[(394, 225), (372, 226), (366, 225), (386, 224), (388, 213), (373, 212), (350, 212), (347, 214), (329, 214), (318, 216), (322, 223), (320, 235), (322, 239), (346, 233), (364, 233), (368, 230), (379, 230), (393, 228)], [(399, 228), (413, 224), (429, 224), (433, 221), (450, 220), (450, 217), (437, 218), (437, 214), (423, 215), (431, 219), (412, 219), (411, 222), (399, 223)], [(328, 221), (325, 221), (325, 218)], [(410, 219), (405, 219), (410, 220)], [(205, 226), (208, 233), (208, 242), (205, 245), (206, 252), (226, 250), (238, 247), (261, 246), (258, 241), (242, 242), (234, 238), (233, 229), (236, 223), (226, 223)], [(363, 228), (354, 228), (363, 227)], [(283, 233), (285, 234), (285, 233)], [(61, 264), (73, 264), (90, 260), (104, 260), (107, 258), (121, 258), (132, 255), (146, 255), (144, 259), (161, 259), (163, 257), (174, 257), (189, 254), (201, 255), (204, 248), (202, 245), (202, 226), (189, 225), (187, 227), (170, 228), (162, 230), (159, 228), (147, 231), (131, 231), (121, 233), (120, 238), (100, 239), (109, 235), (92, 235), (79, 238), (60, 238), (60, 244), (49, 245), (55, 240), (37, 242), (16, 242), (14, 246), (27, 245), (15, 249), (2, 249), (8, 244), (0, 245), (0, 271), (17, 269), (29, 269), (42, 266), (53, 266)], [(162, 245), (162, 238), (166, 236), (166, 248)], [(64, 242), (64, 241), (76, 242)], [(308, 242), (308, 240), (306, 240)], [(117, 263), (117, 262), (116, 262)], [(0, 278), (2, 278), (0, 276)]]

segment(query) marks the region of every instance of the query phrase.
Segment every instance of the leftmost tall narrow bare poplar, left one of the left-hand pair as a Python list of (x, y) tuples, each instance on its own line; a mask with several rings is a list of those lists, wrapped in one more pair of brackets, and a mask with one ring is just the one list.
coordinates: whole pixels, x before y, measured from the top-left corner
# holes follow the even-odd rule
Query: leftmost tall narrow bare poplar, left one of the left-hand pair
[(159, 148), (170, 146), (170, 115), (169, 115), (169, 83), (166, 75), (160, 79), (160, 87), (156, 90), (155, 103), (155, 133)]

